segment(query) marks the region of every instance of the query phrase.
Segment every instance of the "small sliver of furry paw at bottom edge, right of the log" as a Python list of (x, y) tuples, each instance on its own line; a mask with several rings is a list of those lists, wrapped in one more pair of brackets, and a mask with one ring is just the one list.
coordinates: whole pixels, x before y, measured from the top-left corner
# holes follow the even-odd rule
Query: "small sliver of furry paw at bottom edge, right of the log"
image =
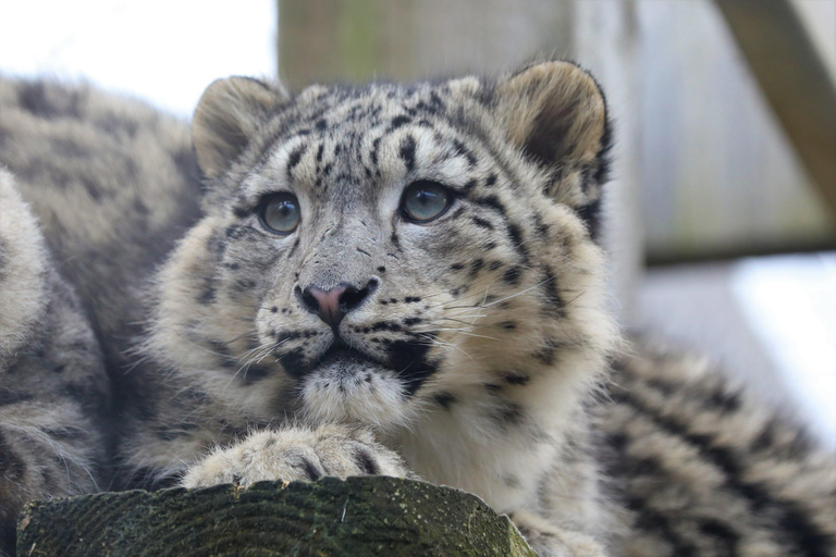
[(508, 515), (528, 545), (540, 557), (607, 557), (604, 546), (591, 535), (555, 527), (526, 511)]

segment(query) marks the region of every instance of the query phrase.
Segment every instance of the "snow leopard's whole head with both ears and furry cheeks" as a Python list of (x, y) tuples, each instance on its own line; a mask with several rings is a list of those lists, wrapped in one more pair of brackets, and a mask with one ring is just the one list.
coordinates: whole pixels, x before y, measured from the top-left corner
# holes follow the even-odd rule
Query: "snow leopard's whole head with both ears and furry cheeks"
[(206, 215), (159, 324), (218, 397), (383, 428), (479, 400), (511, 426), (602, 368), (608, 124), (577, 66), (296, 97), (233, 77), (194, 139)]

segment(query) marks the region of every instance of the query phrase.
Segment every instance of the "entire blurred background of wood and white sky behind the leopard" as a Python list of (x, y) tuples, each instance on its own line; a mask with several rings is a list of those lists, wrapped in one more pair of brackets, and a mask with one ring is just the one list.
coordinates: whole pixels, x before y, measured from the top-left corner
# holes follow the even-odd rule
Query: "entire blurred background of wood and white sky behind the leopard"
[(187, 119), (214, 78), (409, 81), (578, 61), (616, 124), (613, 304), (836, 450), (836, 0), (27, 0), (0, 72)]

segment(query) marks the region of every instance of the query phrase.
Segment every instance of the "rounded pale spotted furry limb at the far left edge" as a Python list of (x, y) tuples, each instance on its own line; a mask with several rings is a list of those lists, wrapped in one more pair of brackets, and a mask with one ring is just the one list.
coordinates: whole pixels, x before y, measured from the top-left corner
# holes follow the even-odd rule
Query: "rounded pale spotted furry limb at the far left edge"
[(107, 485), (109, 396), (78, 298), (0, 168), (0, 555), (26, 502)]

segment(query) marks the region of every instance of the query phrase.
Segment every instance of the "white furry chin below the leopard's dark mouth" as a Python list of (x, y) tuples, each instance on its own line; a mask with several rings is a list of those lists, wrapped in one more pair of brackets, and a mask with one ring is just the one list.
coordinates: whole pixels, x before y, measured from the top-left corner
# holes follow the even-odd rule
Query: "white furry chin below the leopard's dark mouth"
[(331, 362), (304, 380), (305, 412), (317, 422), (382, 429), (403, 424), (406, 391), (391, 370), (371, 363)]

